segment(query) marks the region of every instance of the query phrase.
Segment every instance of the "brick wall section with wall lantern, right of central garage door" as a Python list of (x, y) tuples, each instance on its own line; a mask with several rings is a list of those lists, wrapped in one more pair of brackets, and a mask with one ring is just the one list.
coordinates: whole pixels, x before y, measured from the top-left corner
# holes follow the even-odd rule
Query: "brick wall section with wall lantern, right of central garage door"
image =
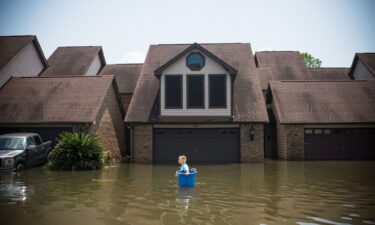
[[(250, 140), (250, 129), (255, 130), (254, 140)], [(263, 162), (264, 160), (264, 125), (241, 124), (241, 162)]]

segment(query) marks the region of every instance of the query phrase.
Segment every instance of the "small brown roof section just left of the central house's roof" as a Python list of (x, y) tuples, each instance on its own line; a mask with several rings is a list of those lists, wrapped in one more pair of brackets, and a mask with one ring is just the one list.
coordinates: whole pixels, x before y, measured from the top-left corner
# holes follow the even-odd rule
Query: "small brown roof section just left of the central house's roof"
[(115, 75), (119, 92), (121, 94), (132, 94), (137, 85), (139, 73), (143, 64), (108, 64), (102, 71), (101, 75)]

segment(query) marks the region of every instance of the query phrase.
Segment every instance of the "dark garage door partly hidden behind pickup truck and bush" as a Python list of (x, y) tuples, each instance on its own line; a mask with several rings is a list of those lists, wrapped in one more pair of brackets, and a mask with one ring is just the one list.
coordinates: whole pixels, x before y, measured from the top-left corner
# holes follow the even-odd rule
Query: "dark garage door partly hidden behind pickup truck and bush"
[(43, 141), (52, 141), (56, 144), (56, 138), (61, 132), (72, 131), (71, 127), (0, 127), (0, 134), (6, 133), (38, 133)]

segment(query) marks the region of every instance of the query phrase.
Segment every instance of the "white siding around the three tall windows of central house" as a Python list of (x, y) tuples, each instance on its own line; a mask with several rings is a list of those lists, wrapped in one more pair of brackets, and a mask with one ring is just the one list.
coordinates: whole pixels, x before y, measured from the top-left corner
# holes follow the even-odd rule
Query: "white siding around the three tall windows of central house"
[[(196, 51), (195, 51), (196, 52)], [(203, 54), (203, 53), (202, 53)], [(188, 54), (187, 54), (188, 55)], [(204, 55), (204, 54), (203, 54)], [(231, 116), (232, 108), (232, 82), (231, 77), (227, 71), (217, 62), (204, 55), (205, 66), (200, 71), (191, 71), (186, 67), (186, 58), (182, 57), (177, 62), (172, 64), (170, 67), (164, 70), (160, 78), (160, 109), (162, 116)], [(165, 109), (165, 75), (182, 75), (182, 109)], [(204, 109), (188, 109), (186, 90), (187, 90), (187, 75), (202, 75), (204, 74)], [(208, 76), (210, 74), (225, 74), (227, 79), (226, 89), (226, 102), (227, 107), (223, 109), (210, 109), (209, 108), (209, 81)]]

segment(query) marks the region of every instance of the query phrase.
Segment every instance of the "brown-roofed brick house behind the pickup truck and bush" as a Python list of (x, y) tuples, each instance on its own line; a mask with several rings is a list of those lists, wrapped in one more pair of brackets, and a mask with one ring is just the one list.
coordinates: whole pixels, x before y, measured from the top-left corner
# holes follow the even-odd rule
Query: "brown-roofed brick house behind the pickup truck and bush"
[(0, 89), (0, 134), (63, 131), (98, 135), (115, 158), (124, 153), (123, 107), (113, 76), (13, 77)]

